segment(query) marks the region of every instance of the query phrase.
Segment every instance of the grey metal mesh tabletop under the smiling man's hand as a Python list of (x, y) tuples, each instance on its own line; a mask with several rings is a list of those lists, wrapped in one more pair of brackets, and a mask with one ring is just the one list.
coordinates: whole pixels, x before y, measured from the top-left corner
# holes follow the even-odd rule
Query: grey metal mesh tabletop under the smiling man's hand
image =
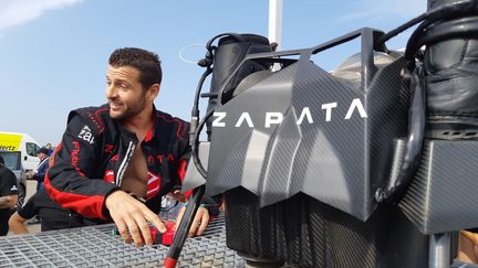
[[(136, 248), (113, 235), (115, 225), (43, 232), (0, 238), (0, 267), (162, 267), (168, 247)], [(205, 235), (186, 239), (177, 267), (246, 267), (226, 246), (225, 219)]]

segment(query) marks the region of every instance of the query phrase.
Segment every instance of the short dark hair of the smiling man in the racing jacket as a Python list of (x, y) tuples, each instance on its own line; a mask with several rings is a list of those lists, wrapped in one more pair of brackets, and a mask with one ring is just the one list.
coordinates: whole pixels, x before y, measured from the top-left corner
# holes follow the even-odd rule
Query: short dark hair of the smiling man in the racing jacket
[(137, 49), (124, 47), (115, 50), (108, 60), (114, 67), (132, 66), (139, 71), (139, 83), (143, 88), (159, 84), (163, 79), (160, 61), (156, 53)]

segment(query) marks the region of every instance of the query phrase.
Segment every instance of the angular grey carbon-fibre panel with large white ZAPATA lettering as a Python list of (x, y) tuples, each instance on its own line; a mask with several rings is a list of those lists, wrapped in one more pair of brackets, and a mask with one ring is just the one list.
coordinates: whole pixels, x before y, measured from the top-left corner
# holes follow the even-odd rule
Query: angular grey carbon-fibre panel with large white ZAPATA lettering
[[(212, 129), (206, 194), (243, 186), (266, 206), (302, 192), (365, 221), (407, 129), (404, 66), (386, 65), (363, 89), (299, 61), (219, 106), (226, 127)], [(268, 112), (283, 120), (268, 126)]]

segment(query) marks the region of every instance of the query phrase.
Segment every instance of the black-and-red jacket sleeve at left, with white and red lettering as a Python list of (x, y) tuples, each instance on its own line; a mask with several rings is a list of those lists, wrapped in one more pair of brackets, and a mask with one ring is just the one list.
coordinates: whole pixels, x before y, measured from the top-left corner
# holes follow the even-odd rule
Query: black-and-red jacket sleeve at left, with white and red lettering
[(44, 185), (50, 197), (86, 217), (107, 218), (104, 201), (118, 187), (102, 179), (100, 133), (93, 122), (70, 115), (66, 131), (56, 149)]

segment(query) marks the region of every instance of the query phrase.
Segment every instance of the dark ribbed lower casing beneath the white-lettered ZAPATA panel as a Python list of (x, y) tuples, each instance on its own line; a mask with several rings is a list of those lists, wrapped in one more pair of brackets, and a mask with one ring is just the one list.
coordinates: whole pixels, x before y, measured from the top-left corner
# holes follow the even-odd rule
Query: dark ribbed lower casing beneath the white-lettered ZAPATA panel
[(324, 268), (427, 264), (427, 237), (396, 207), (381, 207), (364, 223), (304, 194), (263, 208), (245, 189), (225, 196), (227, 245), (245, 258)]

